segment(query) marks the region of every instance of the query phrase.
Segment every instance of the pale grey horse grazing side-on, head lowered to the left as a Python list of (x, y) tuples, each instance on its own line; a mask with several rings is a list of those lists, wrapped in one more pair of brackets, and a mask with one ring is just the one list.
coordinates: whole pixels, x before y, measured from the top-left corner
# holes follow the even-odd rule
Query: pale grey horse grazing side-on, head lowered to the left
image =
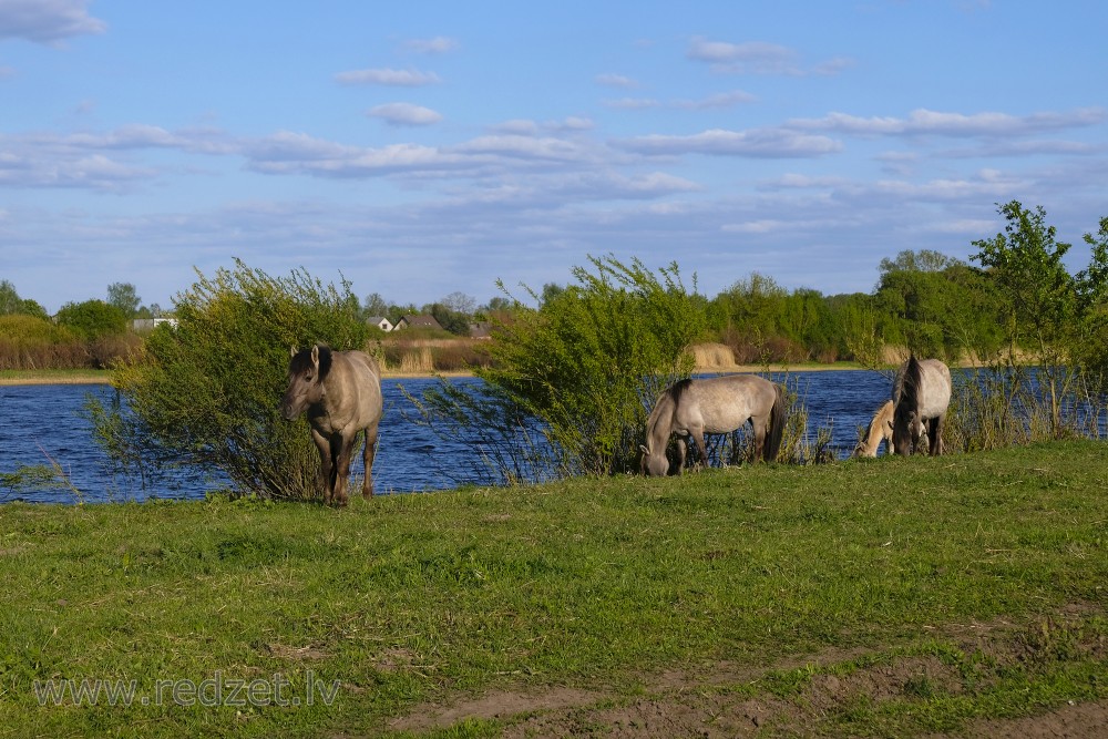
[(678, 465), (685, 466), (687, 443), (693, 437), (700, 460), (708, 459), (705, 433), (730, 433), (747, 421), (755, 431), (755, 459), (777, 459), (784, 432), (784, 398), (781, 388), (756, 374), (725, 374), (706, 380), (680, 380), (666, 388), (646, 422), (642, 468), (645, 475), (669, 472), (666, 447), (677, 433)]

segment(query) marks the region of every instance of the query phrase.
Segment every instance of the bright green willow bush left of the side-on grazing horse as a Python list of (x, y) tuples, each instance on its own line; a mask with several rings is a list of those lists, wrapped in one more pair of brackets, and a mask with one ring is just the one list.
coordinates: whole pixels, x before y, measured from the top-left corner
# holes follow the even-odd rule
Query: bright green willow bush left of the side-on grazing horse
[[(704, 311), (677, 265), (656, 276), (637, 259), (625, 265), (608, 256), (589, 264), (592, 269), (574, 269), (576, 285), (545, 290), (537, 309), (521, 309), (497, 325), (492, 366), (476, 370), (488, 383), (483, 402), (443, 381), (419, 407), (432, 428), (464, 424), (495, 435), (488, 443), (511, 460), (496, 463), (501, 478), (634, 469), (648, 409), (668, 383), (693, 370), (688, 348), (702, 337)], [(520, 461), (516, 452), (529, 455)], [(485, 447), (481, 453), (490, 454)]]

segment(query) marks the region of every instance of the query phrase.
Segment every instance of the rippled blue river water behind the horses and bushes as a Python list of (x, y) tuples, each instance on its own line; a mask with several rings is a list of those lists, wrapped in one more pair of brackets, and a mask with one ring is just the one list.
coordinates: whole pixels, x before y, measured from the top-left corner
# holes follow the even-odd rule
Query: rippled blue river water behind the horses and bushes
[[(869, 423), (873, 411), (889, 397), (890, 379), (865, 370), (791, 372), (774, 374), (787, 382), (808, 410), (808, 432), (819, 428), (831, 431), (832, 447), (842, 458), (858, 441), (858, 425)], [(480, 382), (480, 380), (461, 380)], [(384, 418), (380, 445), (373, 464), (373, 485), (378, 493), (455, 487), (468, 479), (459, 455), (466, 455), (464, 440), (442, 440), (429, 429), (404, 417), (412, 406), (401, 388), (419, 397), (435, 380), (384, 380)], [(175, 471), (147, 480), (112, 474), (107, 456), (93, 441), (82, 409), (90, 396), (109, 402), (114, 390), (102, 384), (47, 384), (0, 387), (0, 473), (20, 468), (57, 465), (80, 491), (69, 486), (48, 486), (13, 492), (0, 483), (0, 502), (75, 503), (146, 500), (148, 497), (202, 499), (213, 490), (226, 489), (219, 476)], [(355, 472), (360, 474), (360, 455)], [(462, 470), (462, 476), (458, 476)], [(449, 471), (449, 472), (448, 472)]]

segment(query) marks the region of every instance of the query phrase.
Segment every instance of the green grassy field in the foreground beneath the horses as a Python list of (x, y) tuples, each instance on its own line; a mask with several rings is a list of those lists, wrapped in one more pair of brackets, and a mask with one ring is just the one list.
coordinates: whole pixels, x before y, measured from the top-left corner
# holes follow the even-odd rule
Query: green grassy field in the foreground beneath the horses
[(1106, 489), (1108, 448), (1066, 442), (8, 504), (0, 737), (905, 737), (1096, 705)]

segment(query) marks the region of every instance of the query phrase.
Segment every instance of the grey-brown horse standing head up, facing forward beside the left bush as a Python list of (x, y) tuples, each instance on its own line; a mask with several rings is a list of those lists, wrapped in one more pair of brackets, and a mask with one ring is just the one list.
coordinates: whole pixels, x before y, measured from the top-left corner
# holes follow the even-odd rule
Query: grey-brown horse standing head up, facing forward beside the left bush
[(315, 345), (311, 349), (290, 351), (288, 389), (281, 400), (286, 421), (307, 413), (311, 440), (319, 450), (317, 484), (324, 504), (347, 504), (350, 456), (358, 432), (366, 432), (366, 478), (362, 497), (373, 495), (373, 456), (377, 453), (378, 425), (384, 410), (381, 398), (381, 370), (372, 357), (361, 351), (332, 351)]

